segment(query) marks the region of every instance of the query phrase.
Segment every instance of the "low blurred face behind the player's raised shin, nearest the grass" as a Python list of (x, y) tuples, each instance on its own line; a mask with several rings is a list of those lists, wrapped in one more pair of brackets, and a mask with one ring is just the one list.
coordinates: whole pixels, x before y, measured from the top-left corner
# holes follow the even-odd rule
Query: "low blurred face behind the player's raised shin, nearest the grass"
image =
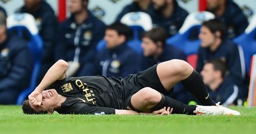
[(214, 82), (215, 74), (216, 73), (214, 71), (214, 66), (212, 64), (206, 63), (205, 66), (203, 66), (201, 75), (202, 75), (203, 82), (205, 83), (205, 85), (209, 85), (212, 82)]

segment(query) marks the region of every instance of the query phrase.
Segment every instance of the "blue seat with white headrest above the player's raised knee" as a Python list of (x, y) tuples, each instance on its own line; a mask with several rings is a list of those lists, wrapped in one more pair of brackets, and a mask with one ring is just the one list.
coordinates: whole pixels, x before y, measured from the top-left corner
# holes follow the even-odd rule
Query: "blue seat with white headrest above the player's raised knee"
[(201, 43), (198, 38), (201, 24), (212, 18), (215, 18), (214, 14), (207, 11), (193, 12), (187, 16), (179, 32), (166, 40), (168, 45), (173, 45), (184, 51), (188, 63), (193, 67), (196, 67), (197, 51)]

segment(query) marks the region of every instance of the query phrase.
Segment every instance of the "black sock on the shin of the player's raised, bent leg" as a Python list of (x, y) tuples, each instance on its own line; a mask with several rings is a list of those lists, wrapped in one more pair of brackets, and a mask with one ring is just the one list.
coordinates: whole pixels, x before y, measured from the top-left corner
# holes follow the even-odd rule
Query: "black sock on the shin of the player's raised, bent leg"
[(205, 83), (199, 73), (196, 70), (187, 77), (187, 79), (181, 81), (182, 85), (184, 85), (185, 89), (194, 95), (202, 105), (215, 105), (215, 102), (212, 101), (211, 96), (209, 96), (208, 92), (205, 88)]

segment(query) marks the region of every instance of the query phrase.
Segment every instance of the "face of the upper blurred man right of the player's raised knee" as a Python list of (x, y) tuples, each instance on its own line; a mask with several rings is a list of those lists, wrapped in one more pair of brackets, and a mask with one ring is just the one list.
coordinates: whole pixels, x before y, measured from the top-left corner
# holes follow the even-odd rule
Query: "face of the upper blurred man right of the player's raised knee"
[(201, 40), (201, 46), (203, 48), (211, 46), (215, 42), (214, 33), (212, 33), (208, 27), (202, 26), (200, 29), (199, 38)]

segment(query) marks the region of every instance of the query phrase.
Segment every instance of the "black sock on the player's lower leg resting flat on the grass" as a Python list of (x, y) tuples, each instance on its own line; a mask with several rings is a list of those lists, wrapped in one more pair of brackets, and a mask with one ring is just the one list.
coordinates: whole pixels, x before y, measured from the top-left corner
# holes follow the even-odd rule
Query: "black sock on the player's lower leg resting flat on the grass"
[(165, 96), (163, 94), (161, 94), (161, 96), (161, 101), (152, 109), (152, 111), (160, 110), (163, 107), (170, 107), (173, 108), (172, 114), (195, 115), (193, 111), (196, 110), (196, 105), (185, 105), (176, 99), (170, 98), (169, 96)]

